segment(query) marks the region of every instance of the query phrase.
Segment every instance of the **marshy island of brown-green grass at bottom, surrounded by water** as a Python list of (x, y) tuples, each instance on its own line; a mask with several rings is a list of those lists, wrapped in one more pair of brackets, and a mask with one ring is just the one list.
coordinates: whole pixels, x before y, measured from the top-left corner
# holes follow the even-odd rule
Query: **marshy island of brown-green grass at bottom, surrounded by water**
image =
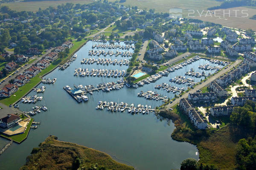
[(20, 170), (134, 170), (106, 153), (57, 139), (49, 136), (39, 147), (33, 148)]

